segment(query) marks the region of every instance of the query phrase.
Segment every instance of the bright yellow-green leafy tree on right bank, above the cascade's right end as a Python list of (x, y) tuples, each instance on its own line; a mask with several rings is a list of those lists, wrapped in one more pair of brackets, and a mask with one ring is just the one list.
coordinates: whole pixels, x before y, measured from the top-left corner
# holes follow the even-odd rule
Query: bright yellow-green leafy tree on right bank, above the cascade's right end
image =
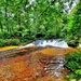
[(68, 15), (67, 39), (69, 43), (76, 45), (81, 38), (81, 1)]

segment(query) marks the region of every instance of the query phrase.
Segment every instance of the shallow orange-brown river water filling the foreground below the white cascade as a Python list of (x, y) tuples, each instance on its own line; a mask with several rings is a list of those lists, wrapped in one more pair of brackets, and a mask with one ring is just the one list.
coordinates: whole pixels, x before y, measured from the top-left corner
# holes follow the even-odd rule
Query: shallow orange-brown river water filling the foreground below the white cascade
[(0, 48), (0, 81), (65, 81), (65, 54), (76, 49)]

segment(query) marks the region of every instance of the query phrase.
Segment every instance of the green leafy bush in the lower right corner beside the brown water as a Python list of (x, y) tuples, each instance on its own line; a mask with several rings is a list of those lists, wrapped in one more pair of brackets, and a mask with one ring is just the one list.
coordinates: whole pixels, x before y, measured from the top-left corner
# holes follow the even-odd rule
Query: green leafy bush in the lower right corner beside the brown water
[(81, 52), (79, 53), (72, 52), (66, 55), (65, 60), (66, 60), (66, 67), (70, 71), (67, 78), (69, 80), (76, 79), (77, 81), (79, 81), (81, 79)]

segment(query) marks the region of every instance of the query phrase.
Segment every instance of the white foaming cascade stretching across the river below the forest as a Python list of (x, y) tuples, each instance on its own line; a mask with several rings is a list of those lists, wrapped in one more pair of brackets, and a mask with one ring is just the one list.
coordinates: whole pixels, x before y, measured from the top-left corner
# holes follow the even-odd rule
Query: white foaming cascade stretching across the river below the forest
[(36, 40), (29, 44), (26, 44), (25, 46), (22, 48), (28, 48), (28, 46), (32, 46), (32, 45), (37, 45), (37, 46), (54, 46), (54, 48), (68, 48), (68, 44), (65, 40), (60, 40), (60, 39), (55, 39), (55, 40)]

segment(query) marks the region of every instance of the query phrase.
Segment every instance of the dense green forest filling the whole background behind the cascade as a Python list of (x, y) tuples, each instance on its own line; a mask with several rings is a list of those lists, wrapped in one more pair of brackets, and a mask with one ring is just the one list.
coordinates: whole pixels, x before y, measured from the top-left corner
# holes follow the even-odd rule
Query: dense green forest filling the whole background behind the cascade
[(76, 12), (68, 14), (72, 3), (73, 0), (1, 0), (0, 39), (28, 43), (37, 39), (60, 38), (75, 43), (81, 35), (81, 2), (73, 8)]

